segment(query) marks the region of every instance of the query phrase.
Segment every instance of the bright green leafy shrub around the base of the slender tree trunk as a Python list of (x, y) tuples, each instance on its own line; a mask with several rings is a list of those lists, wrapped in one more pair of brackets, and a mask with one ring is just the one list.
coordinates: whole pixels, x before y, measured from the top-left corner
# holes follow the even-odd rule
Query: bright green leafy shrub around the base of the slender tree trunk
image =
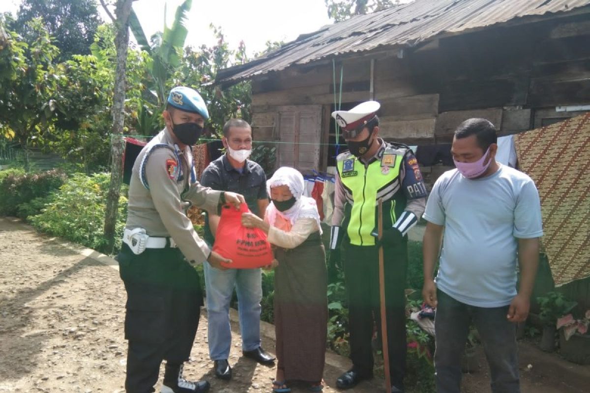
[[(53, 200), (41, 214), (31, 217), (32, 224), (41, 232), (61, 236), (72, 242), (103, 250), (104, 208), (109, 191), (110, 174), (91, 176), (76, 173), (54, 193)], [(116, 250), (120, 249), (127, 219), (126, 190), (119, 199), (116, 226)]]

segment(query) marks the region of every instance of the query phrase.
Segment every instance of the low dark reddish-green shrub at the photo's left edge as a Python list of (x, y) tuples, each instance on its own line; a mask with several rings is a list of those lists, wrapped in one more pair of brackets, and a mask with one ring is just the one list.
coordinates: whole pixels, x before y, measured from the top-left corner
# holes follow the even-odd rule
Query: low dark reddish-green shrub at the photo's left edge
[[(19, 169), (0, 171), (0, 215), (16, 216), (19, 206), (35, 198), (47, 197), (64, 184), (67, 176), (61, 170), (24, 173)], [(25, 207), (23, 214), (32, 212)], [(26, 218), (27, 216), (19, 215)]]

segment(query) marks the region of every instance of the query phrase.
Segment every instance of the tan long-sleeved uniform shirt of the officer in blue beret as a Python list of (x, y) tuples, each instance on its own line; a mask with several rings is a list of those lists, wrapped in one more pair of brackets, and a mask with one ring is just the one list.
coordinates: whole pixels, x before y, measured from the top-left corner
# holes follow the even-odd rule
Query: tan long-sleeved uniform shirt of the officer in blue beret
[[(166, 144), (169, 147), (153, 147), (156, 144)], [(178, 150), (180, 163), (174, 153), (176, 148), (170, 132), (164, 128), (137, 156), (129, 184), (126, 228), (143, 228), (149, 236), (170, 236), (189, 262), (202, 263), (207, 260), (211, 250), (196, 234), (191, 220), (186, 217), (182, 201), (188, 200), (201, 209), (215, 212), (221, 191), (203, 187), (198, 182), (189, 186), (191, 148), (186, 146), (184, 150)], [(150, 153), (146, 157), (148, 151)], [(149, 189), (140, 179), (144, 160), (144, 180)], [(173, 163), (178, 165), (176, 173), (171, 171)]]

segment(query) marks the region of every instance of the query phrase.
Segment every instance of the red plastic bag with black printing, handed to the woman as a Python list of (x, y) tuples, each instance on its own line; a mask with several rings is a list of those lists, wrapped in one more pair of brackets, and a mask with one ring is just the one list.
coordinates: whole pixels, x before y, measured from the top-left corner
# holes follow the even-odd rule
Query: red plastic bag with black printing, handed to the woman
[(247, 212), (250, 209), (245, 203), (240, 205), (240, 210), (228, 205), (221, 207), (213, 250), (232, 260), (232, 263), (224, 263), (225, 267), (254, 269), (273, 262), (273, 251), (266, 241), (266, 233), (258, 228), (242, 226), (242, 213)]

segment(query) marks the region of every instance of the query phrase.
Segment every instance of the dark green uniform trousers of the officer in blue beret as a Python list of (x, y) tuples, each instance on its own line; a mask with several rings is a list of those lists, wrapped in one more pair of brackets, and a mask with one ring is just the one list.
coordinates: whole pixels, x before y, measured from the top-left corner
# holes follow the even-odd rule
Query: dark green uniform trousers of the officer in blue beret
[(162, 360), (179, 365), (191, 354), (202, 305), (199, 276), (176, 248), (135, 255), (123, 244), (117, 260), (127, 291), (125, 389), (150, 393)]

